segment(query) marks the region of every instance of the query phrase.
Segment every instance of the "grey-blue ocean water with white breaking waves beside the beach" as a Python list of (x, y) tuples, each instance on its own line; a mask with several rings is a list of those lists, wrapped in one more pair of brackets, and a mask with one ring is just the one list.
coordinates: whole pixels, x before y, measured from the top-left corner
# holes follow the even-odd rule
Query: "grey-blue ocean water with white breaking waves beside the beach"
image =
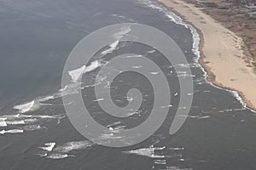
[[(235, 92), (206, 82), (199, 65), (199, 35), (195, 28), (167, 8), (149, 0), (56, 0), (0, 2), (0, 169), (166, 169), (208, 170), (256, 168), (256, 115), (245, 108)], [(152, 87), (143, 77), (127, 73), (119, 77), (119, 93), (136, 86), (148, 94), (143, 111), (127, 120), (103, 114), (93, 89), (97, 71), (108, 59), (133, 52), (148, 55), (160, 68), (172, 68), (152, 48), (134, 42), (114, 42), (99, 54), (107, 57), (69, 71), (73, 84), (61, 88), (61, 74), (68, 54), (90, 32), (118, 23), (140, 23), (164, 31), (182, 49), (193, 77), (194, 100), (183, 127), (169, 134), (173, 116), (150, 138), (126, 148), (108, 148), (80, 135), (67, 119), (61, 96), (78, 93), (82, 79), (85, 105), (97, 122), (113, 130), (135, 127), (145, 121), (152, 105)], [(131, 56), (134, 57), (134, 56)], [(139, 68), (143, 65), (134, 65)], [(152, 71), (157, 76), (158, 71)], [(131, 78), (132, 77), (132, 78)], [(174, 81), (174, 82), (172, 82)], [(174, 100), (179, 94), (173, 91)], [(188, 94), (191, 95), (191, 94)], [(175, 98), (177, 97), (177, 98)], [(121, 99), (121, 98), (119, 98)], [(129, 100), (129, 99), (127, 99)], [(125, 105), (125, 103), (117, 103)], [(177, 105), (173, 105), (173, 109)], [(111, 135), (102, 135), (102, 142)]]

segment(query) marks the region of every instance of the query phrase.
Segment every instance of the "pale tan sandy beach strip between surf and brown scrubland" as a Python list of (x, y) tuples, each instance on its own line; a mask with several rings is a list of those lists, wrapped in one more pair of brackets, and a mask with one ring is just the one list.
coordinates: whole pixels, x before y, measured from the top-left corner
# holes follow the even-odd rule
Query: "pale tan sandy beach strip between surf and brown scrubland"
[(256, 111), (256, 74), (246, 62), (242, 39), (193, 4), (182, 0), (157, 1), (172, 8), (201, 33), (200, 62), (208, 73), (207, 80), (237, 91), (247, 107)]

